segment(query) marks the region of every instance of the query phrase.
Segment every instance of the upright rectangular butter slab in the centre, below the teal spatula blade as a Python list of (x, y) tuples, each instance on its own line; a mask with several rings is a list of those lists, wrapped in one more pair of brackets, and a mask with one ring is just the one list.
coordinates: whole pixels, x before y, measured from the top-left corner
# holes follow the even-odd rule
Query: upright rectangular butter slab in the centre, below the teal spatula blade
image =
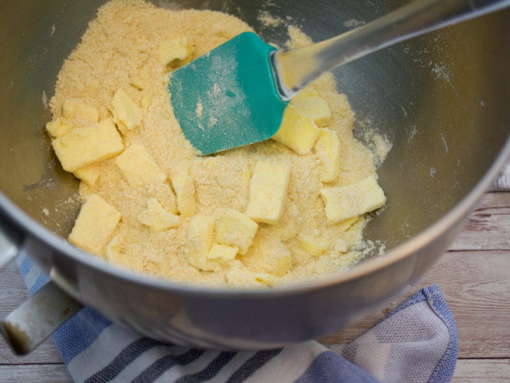
[(288, 165), (258, 161), (251, 176), (246, 216), (256, 222), (278, 223), (283, 213), (289, 177)]

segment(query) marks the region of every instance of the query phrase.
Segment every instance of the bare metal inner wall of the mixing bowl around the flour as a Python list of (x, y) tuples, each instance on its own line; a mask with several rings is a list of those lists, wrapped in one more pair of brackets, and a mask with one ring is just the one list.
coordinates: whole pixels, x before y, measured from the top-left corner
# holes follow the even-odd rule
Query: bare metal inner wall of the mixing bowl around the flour
[[(57, 74), (101, 0), (4, 1), (0, 15), (0, 189), (51, 231), (67, 237), (79, 210), (78, 182), (62, 170), (45, 123)], [(154, 1), (174, 9), (232, 13), (283, 45), (287, 23), (324, 40), (371, 21), (402, 1)], [(278, 26), (261, 14), (280, 18)], [(356, 137), (392, 143), (380, 164), (387, 206), (365, 238), (392, 248), (459, 203), (509, 138), (510, 11), (414, 38), (334, 71), (356, 112)]]

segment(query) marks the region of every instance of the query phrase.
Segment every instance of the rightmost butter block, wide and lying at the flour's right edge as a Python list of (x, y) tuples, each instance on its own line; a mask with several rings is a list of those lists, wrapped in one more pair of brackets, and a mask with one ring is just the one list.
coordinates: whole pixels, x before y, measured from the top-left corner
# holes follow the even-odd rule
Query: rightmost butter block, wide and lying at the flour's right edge
[(374, 177), (366, 177), (346, 187), (320, 189), (329, 224), (361, 216), (380, 208), (386, 202), (384, 191)]

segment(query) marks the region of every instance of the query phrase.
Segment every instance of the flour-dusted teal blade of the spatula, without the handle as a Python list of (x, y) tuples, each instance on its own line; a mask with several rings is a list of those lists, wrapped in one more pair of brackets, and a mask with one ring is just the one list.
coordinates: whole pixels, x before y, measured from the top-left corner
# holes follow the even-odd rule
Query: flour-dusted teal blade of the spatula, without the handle
[(267, 140), (278, 131), (287, 102), (273, 79), (272, 50), (246, 32), (172, 72), (175, 116), (202, 155)]

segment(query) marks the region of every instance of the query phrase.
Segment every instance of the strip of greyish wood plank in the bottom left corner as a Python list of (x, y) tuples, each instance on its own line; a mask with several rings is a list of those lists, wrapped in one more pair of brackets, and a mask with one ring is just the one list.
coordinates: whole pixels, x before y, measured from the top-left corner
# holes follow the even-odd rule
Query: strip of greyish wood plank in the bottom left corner
[(72, 383), (64, 365), (0, 365), (0, 381), (8, 383)]

